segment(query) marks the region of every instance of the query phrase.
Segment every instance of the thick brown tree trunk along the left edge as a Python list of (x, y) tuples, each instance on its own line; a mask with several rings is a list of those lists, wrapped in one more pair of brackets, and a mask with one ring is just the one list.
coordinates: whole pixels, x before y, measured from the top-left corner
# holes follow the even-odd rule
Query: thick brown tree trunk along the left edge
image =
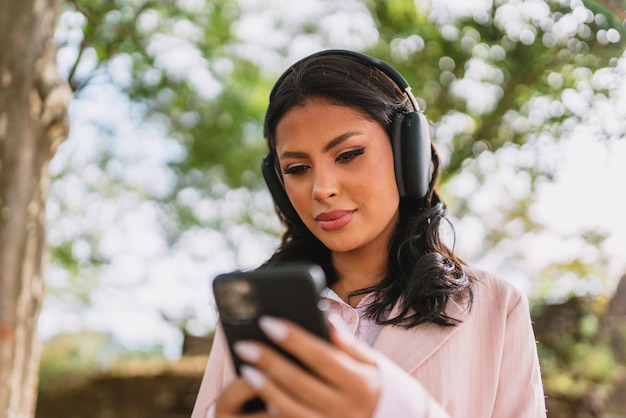
[(34, 416), (48, 163), (68, 133), (63, 0), (0, 0), (0, 418)]

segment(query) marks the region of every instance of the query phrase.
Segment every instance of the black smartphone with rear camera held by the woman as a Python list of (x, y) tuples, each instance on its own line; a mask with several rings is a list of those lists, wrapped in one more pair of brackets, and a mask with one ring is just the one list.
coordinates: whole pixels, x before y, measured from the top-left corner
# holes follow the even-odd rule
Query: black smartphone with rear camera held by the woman
[[(263, 315), (284, 318), (328, 340), (324, 307), (319, 296), (324, 287), (324, 271), (312, 264), (286, 264), (216, 276), (213, 295), (237, 374), (244, 362), (232, 347), (240, 340), (262, 342), (304, 367), (265, 336), (258, 319)], [(243, 411), (263, 409), (261, 399), (255, 398), (244, 405)]]

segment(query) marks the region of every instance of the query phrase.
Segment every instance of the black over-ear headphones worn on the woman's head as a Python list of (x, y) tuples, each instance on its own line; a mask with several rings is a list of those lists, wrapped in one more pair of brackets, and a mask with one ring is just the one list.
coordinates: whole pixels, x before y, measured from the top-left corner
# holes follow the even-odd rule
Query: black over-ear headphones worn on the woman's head
[[(389, 129), (396, 183), (401, 197), (423, 199), (428, 193), (431, 178), (431, 148), (428, 121), (420, 111), (417, 100), (411, 92), (411, 86), (391, 65), (368, 55), (349, 50), (331, 49), (320, 51), (301, 59), (289, 67), (276, 81), (270, 94), (270, 100), (272, 100), (278, 86), (291, 73), (293, 68), (304, 61), (327, 55), (346, 55), (361, 59), (382, 71), (407, 95), (415, 111), (396, 115)], [(302, 221), (298, 213), (285, 192), (276, 152), (270, 151), (263, 158), (262, 172), (274, 203), (281, 213), (288, 221), (296, 224), (301, 223)]]

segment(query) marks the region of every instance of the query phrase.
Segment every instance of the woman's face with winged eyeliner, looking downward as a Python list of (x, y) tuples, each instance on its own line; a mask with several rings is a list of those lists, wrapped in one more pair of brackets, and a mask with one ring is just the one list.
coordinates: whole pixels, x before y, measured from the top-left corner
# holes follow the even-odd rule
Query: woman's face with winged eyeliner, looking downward
[(275, 138), (285, 190), (311, 232), (333, 252), (386, 250), (400, 196), (383, 127), (315, 99), (287, 112)]

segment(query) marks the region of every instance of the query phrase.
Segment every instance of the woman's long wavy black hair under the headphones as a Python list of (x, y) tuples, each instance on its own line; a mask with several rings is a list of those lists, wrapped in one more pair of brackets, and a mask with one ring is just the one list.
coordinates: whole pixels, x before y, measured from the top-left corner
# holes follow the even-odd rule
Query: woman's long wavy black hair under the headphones
[[(303, 60), (281, 77), (272, 91), (265, 117), (264, 134), (269, 152), (275, 152), (276, 126), (296, 106), (314, 99), (348, 106), (389, 130), (399, 113), (413, 111), (405, 93), (381, 70), (356, 56), (323, 55)], [(368, 315), (381, 324), (407, 328), (432, 322), (442, 326), (458, 323), (446, 315), (450, 300), (467, 299), (472, 304), (470, 279), (464, 263), (441, 240), (446, 207), (435, 189), (441, 160), (431, 142), (433, 175), (426, 197), (400, 200), (400, 220), (389, 246), (388, 268), (378, 284), (350, 296), (376, 291)], [(331, 252), (302, 223), (281, 216), (286, 230), (278, 250), (264, 265), (309, 262), (320, 265), (332, 285), (337, 274)], [(400, 303), (394, 317), (390, 309)]]

